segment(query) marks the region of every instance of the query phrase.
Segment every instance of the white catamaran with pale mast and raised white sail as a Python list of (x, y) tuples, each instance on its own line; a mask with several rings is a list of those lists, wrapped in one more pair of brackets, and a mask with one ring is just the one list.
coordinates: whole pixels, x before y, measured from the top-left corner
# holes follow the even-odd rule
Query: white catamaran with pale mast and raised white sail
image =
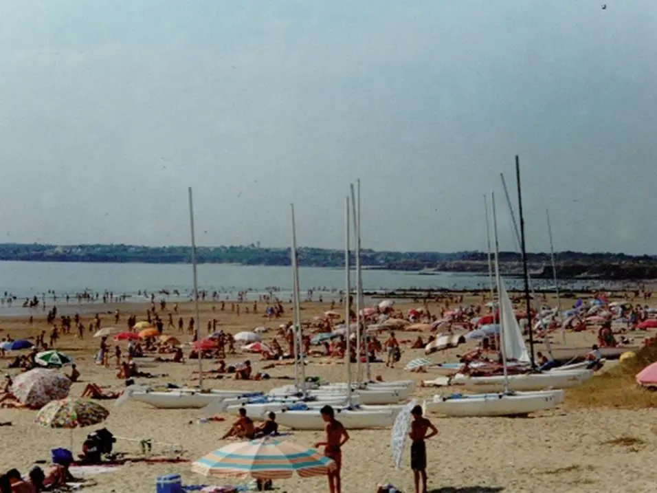
[[(564, 400), (564, 391), (537, 391), (537, 392), (516, 392), (511, 386), (511, 379), (516, 376), (509, 375), (507, 371), (507, 356), (511, 353), (517, 356), (517, 359), (523, 361), (527, 357), (527, 350), (524, 342), (520, 342), (513, 335), (517, 329), (520, 333), (520, 327), (517, 327), (517, 321), (513, 314), (513, 305), (506, 293), (502, 277), (500, 276), (499, 256), (500, 249), (498, 243), (497, 220), (495, 217), (495, 197), (492, 197), (493, 203), (493, 230), (495, 234), (495, 278), (498, 285), (498, 300), (500, 304), (500, 350), (502, 353), (502, 392), (486, 393), (481, 395), (462, 395), (453, 394), (449, 396), (434, 396), (432, 402), (426, 402), (425, 407), (432, 412), (441, 413), (449, 416), (506, 416), (506, 415), (525, 415), (537, 410), (546, 410), (554, 408)], [(508, 351), (508, 352), (507, 352)], [(466, 378), (476, 378), (467, 377)], [(489, 377), (481, 377), (489, 378)], [(498, 378), (498, 377), (491, 377)]]

